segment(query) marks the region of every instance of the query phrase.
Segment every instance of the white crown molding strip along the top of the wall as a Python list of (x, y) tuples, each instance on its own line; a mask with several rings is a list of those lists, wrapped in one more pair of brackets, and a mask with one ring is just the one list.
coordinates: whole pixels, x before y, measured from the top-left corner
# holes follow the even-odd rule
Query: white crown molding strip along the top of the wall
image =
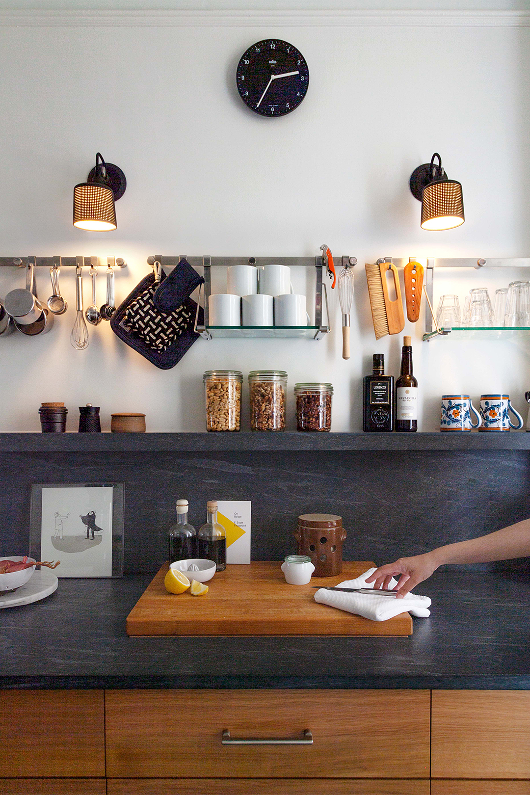
[(0, 27), (530, 27), (530, 11), (0, 10)]

